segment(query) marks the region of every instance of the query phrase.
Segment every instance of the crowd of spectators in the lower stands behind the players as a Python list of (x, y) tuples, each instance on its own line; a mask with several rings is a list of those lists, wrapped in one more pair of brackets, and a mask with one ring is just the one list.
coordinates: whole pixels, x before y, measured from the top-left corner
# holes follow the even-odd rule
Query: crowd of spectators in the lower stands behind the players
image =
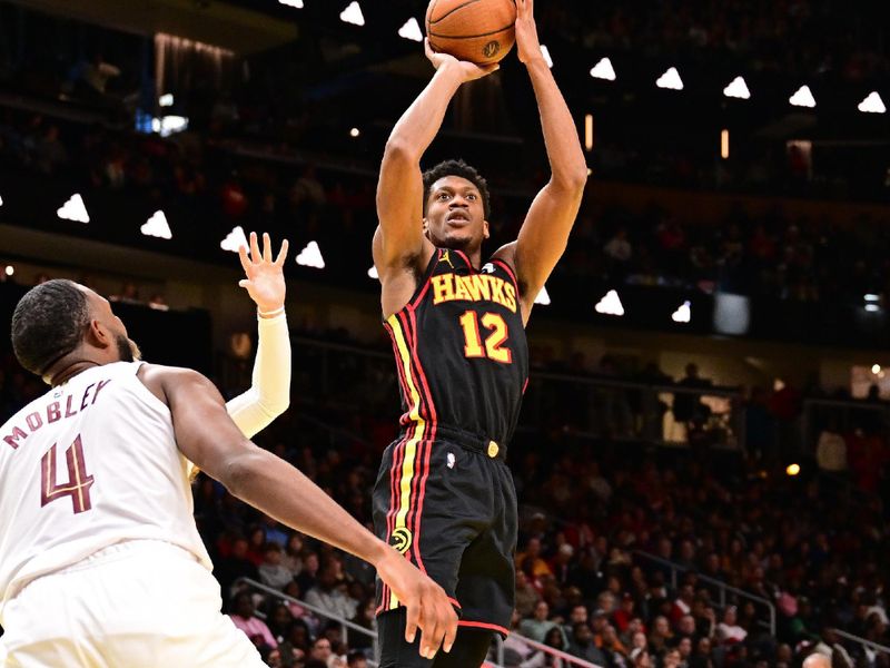
[[(315, 334), (348, 343), (344, 332)], [(544, 362), (550, 371), (564, 371)], [(249, 382), (249, 362), (236, 364), (244, 367), (239, 380), (222, 374), (230, 379), (227, 394)], [(620, 370), (607, 360), (603, 367)], [(10, 358), (2, 369), (0, 405), (9, 415), (43, 386)], [(656, 369), (647, 373), (652, 384), (672, 383)], [(342, 377), (352, 382), (333, 382)], [(710, 389), (693, 367), (679, 384)], [(558, 384), (536, 382), (528, 402), (538, 393), (557, 405), (563, 392)], [(633, 389), (624, 392), (632, 396)], [(343, 351), (326, 356), (323, 345), (295, 346), (291, 410), (257, 441), (368, 523), (374, 473), (395, 435), (397, 395), (386, 358)], [(799, 400), (797, 391), (777, 390), (764, 406), (779, 419)], [(592, 397), (591, 405), (596, 403), (605, 399)], [(673, 403), (688, 423), (708, 410), (698, 395)], [(887, 656), (833, 633), (838, 628), (890, 640), (890, 573), (882, 560), (890, 533), (886, 505), (874, 495), (887, 487), (883, 441), (863, 439), (847, 448), (849, 470), (817, 474), (805, 459), (804, 474), (787, 478), (739, 451), (678, 451), (645, 440), (627, 444), (609, 433), (582, 434), (561, 421), (572, 413), (521, 425), (511, 446), (522, 500), (514, 619), (521, 635), (610, 668), (795, 666), (817, 648), (835, 652), (838, 661), (849, 656), (851, 666), (887, 665)], [(860, 477), (869, 472), (871, 484), (862, 484)], [(270, 666), (363, 665), (369, 638), (237, 580), (258, 580), (373, 631), (374, 573), (367, 564), (280, 527), (206, 478), (195, 487), (195, 512), (226, 611)], [(762, 600), (733, 590), (724, 597), (718, 582)], [(775, 609), (774, 635), (764, 626), (770, 616), (763, 601)], [(504, 652), (510, 667), (560, 665), (518, 636), (507, 639)]]

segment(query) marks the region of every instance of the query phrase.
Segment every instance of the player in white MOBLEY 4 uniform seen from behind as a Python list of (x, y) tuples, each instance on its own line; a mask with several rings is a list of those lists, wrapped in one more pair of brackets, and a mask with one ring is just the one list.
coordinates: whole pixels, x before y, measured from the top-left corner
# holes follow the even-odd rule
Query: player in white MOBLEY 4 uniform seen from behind
[(70, 281), (33, 287), (12, 346), (51, 390), (0, 428), (0, 665), (264, 666), (220, 613), (189, 462), (369, 561), (407, 601), (406, 640), (419, 628), (426, 655), (451, 648), (457, 618), (442, 588), (248, 441), (202, 375), (138, 361), (107, 299)]

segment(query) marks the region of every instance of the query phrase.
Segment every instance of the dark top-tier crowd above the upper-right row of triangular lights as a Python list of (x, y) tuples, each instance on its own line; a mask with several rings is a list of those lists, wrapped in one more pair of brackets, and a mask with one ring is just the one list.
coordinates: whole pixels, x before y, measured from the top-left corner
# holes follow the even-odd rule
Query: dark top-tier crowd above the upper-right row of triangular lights
[(835, 1), (663, 0), (646, 11), (626, 2), (553, 2), (540, 11), (547, 30), (596, 51), (642, 49), (683, 60), (734, 60), (756, 71), (831, 72), (851, 80), (890, 71), (883, 27), (863, 26), (886, 16), (878, 6), (853, 13)]

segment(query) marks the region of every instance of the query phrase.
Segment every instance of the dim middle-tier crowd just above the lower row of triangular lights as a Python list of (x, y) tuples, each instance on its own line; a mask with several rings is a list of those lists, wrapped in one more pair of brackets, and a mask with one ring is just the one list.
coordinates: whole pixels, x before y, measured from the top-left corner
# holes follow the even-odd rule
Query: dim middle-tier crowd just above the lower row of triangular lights
[[(164, 140), (100, 128), (62, 131), (43, 117), (8, 112), (0, 120), (1, 163), (47, 176), (79, 175), (93, 187), (139, 194), (159, 208), (180, 207), (222, 235), (237, 224), (334, 240), (368, 234), (375, 220), (372, 173), (238, 157), (191, 135)], [(496, 244), (515, 236), (527, 198), (498, 195), (497, 185), (493, 190)], [(740, 202), (723, 220), (705, 224), (655, 202), (632, 213), (587, 197), (556, 272), (612, 285), (858, 304), (866, 294), (890, 294), (890, 233), (883, 223), (794, 218), (778, 207), (755, 215)]]

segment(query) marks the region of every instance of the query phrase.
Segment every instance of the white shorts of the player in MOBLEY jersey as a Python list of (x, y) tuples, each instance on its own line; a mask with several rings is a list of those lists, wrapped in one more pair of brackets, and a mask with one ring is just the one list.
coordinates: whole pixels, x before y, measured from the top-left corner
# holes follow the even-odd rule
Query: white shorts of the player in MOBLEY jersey
[(8, 602), (0, 666), (265, 668), (221, 603), (219, 583), (186, 550), (118, 543)]

